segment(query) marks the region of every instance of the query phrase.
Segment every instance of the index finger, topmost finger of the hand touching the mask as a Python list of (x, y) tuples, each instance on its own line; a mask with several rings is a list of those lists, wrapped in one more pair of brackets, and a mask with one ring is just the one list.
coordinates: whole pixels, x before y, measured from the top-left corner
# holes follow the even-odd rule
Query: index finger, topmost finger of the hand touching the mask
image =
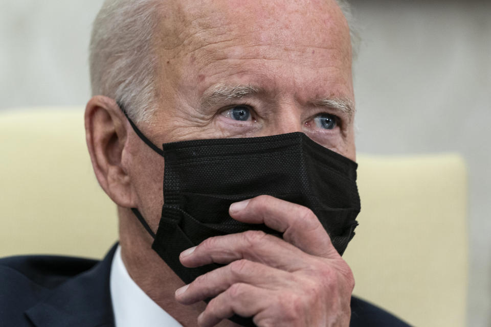
[(229, 214), (238, 221), (265, 224), (282, 232), (286, 242), (306, 253), (324, 258), (339, 257), (321, 222), (305, 206), (261, 195), (233, 203)]

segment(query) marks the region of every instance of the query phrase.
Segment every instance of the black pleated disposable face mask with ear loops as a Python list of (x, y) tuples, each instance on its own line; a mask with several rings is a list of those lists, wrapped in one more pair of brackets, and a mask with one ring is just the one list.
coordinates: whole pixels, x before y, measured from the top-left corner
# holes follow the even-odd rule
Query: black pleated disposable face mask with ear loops
[[(129, 118), (128, 118), (129, 120)], [(215, 268), (186, 268), (179, 254), (212, 236), (263, 230), (265, 225), (232, 219), (233, 202), (271, 195), (310, 208), (340, 254), (354, 236), (360, 212), (356, 162), (296, 132), (265, 137), (200, 139), (164, 144), (160, 149), (131, 120), (138, 136), (164, 157), (164, 205), (154, 234), (138, 209), (133, 213), (154, 238), (155, 250), (189, 284)], [(231, 320), (251, 324), (251, 319)]]

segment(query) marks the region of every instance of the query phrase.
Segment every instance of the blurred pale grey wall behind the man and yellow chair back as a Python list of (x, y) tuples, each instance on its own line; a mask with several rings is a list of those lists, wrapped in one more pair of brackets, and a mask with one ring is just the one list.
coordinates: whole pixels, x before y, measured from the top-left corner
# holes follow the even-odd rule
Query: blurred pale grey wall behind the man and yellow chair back
[[(0, 2), (0, 110), (85, 105), (88, 41), (101, 3)], [(491, 2), (351, 4), (361, 36), (354, 64), (358, 151), (465, 158), (467, 324), (490, 326)]]

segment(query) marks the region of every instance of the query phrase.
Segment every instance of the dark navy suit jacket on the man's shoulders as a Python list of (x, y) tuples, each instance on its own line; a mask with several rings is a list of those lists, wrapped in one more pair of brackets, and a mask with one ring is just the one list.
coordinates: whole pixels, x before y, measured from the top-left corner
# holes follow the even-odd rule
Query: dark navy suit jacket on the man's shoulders
[[(115, 250), (100, 262), (48, 255), (1, 259), (0, 326), (114, 326), (109, 275)], [(408, 326), (359, 298), (352, 297), (351, 311), (352, 327)]]

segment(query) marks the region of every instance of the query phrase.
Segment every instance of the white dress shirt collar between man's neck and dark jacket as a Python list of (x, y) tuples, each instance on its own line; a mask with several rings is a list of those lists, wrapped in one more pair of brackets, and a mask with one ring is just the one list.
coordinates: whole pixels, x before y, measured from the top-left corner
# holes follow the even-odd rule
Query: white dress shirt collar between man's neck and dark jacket
[(119, 245), (111, 265), (110, 291), (116, 327), (183, 327), (133, 282)]

